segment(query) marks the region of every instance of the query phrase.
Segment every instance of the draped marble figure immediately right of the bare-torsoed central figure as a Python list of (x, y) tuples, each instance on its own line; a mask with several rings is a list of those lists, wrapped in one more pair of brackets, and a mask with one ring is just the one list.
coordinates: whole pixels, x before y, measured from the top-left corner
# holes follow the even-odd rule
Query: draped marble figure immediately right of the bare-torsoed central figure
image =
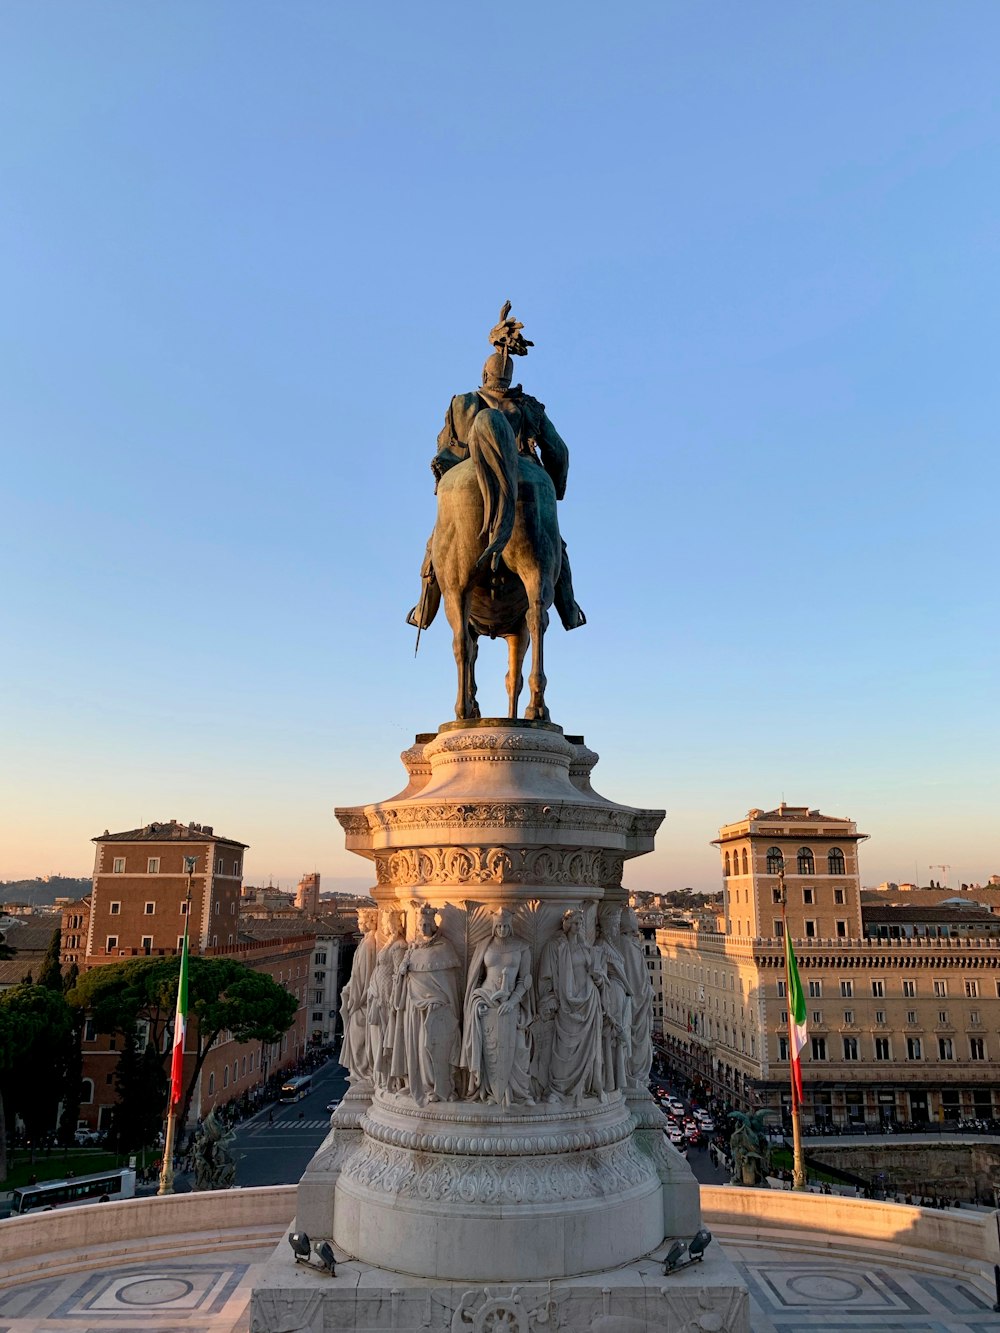
[(600, 1001), (605, 981), (584, 937), (583, 910), (571, 908), (559, 934), (541, 950), (539, 969), (539, 1012), (552, 1018), (547, 1101), (605, 1100)]

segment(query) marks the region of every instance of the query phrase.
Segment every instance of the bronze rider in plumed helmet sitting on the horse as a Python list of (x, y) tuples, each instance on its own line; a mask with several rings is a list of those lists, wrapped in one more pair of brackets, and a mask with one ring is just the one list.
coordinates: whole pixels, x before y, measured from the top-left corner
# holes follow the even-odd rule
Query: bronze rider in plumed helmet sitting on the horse
[[(544, 403), (539, 403), (537, 399), (525, 393), (520, 384), (511, 387), (513, 377), (511, 356), (525, 356), (532, 344), (521, 336), (523, 325), (517, 320), (508, 319), (509, 311), (511, 303), (508, 301), (500, 312), (500, 323), (489, 335), (489, 341), (497, 351), (487, 357), (483, 367), (481, 388), (473, 393), (456, 395), (448, 407), (444, 427), (437, 436), (437, 453), (431, 461), (431, 471), (436, 484), (456, 463), (468, 459), (472, 423), (484, 408), (493, 408), (507, 417), (517, 441), (517, 452), (545, 469), (552, 477), (556, 497), (561, 500), (565, 495), (569, 471), (569, 449), (545, 416)], [(420, 568), (420, 601), (407, 616), (407, 623), (417, 629), (427, 629), (441, 604), (441, 591), (431, 561), (429, 541)], [(573, 597), (573, 580), (565, 543), (563, 543), (563, 565), (556, 583), (553, 605), (565, 629), (576, 629), (579, 625), (587, 624), (587, 617)]]

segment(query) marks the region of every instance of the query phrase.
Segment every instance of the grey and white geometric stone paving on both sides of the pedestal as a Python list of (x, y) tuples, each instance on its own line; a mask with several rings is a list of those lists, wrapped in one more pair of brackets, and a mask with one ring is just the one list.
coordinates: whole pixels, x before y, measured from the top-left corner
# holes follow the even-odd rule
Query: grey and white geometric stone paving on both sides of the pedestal
[[(753, 1333), (1000, 1333), (985, 1282), (729, 1244)], [(267, 1252), (120, 1264), (0, 1292), (0, 1333), (243, 1333)]]

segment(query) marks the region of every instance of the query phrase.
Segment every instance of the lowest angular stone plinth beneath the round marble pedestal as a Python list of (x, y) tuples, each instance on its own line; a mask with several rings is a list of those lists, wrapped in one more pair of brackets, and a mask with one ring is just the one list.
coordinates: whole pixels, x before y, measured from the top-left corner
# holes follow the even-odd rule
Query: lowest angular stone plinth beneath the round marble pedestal
[(251, 1301), (251, 1333), (749, 1333), (749, 1297), (719, 1245), (664, 1277), (648, 1258), (552, 1282), (440, 1282), (353, 1260), (337, 1276), (296, 1265), (283, 1241)]

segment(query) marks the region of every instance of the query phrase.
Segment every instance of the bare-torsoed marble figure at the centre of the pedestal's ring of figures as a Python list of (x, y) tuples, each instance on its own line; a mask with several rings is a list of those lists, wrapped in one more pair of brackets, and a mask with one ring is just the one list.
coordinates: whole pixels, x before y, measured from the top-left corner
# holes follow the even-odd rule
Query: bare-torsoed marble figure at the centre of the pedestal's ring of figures
[(511, 913), (493, 913), (493, 932), (472, 957), (465, 988), (461, 1066), (468, 1097), (501, 1106), (535, 1105), (528, 1024), (532, 1021), (531, 948), (513, 934)]

